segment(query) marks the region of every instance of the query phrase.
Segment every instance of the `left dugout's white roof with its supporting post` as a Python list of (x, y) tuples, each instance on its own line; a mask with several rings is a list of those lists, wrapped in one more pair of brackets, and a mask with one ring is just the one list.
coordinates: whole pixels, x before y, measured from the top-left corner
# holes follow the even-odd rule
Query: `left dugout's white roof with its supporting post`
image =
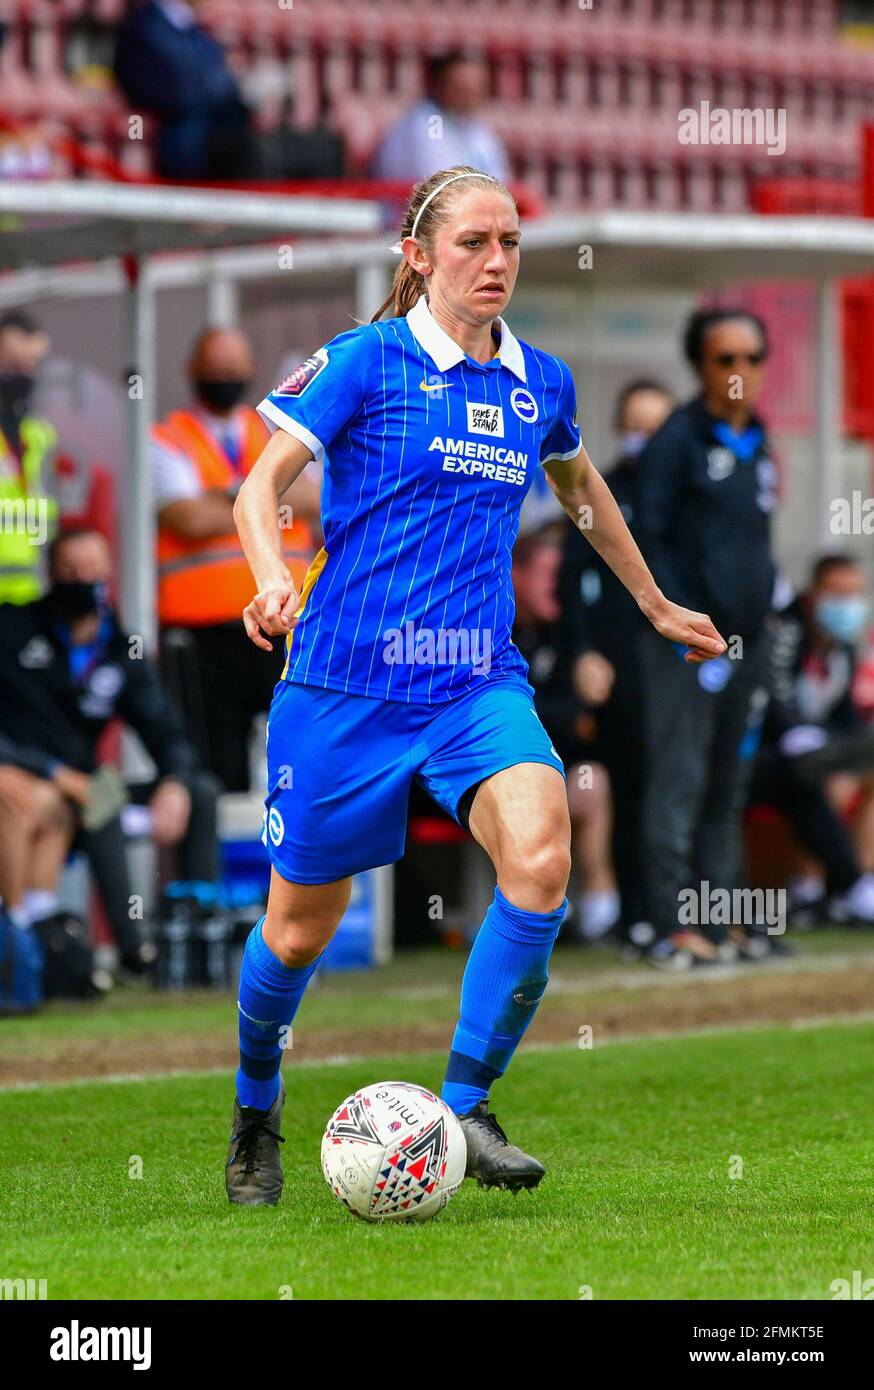
[[(149, 646), (156, 638), (154, 512), (146, 466), (154, 418), (154, 292), (161, 270), (190, 282), (197, 268), (214, 274), (217, 247), (271, 239), (263, 254), (279, 271), (279, 247), (372, 234), (377, 203), (189, 188), (140, 188), (100, 182), (0, 181), (0, 304), (89, 292), (126, 299), (129, 406), (121, 470), (121, 612), (129, 631)], [(163, 265), (161, 253), (178, 252)], [(228, 284), (228, 277), (222, 277)], [(218, 293), (222, 293), (220, 289)], [(225, 316), (226, 317), (226, 316)]]

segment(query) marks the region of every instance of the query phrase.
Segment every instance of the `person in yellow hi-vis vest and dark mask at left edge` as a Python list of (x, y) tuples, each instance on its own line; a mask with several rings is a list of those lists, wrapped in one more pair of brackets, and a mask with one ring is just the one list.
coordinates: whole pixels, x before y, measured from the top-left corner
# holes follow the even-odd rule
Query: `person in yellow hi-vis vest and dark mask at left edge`
[(0, 603), (29, 603), (44, 587), (44, 543), (57, 527), (57, 436), (31, 414), (49, 336), (29, 314), (0, 317)]

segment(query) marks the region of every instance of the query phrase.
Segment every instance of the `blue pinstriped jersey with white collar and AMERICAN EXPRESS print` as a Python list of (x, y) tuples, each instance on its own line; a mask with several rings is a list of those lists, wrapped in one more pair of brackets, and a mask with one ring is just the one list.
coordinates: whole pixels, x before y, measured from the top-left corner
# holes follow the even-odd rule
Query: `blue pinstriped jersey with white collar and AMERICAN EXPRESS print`
[(527, 676), (513, 543), (536, 468), (579, 449), (570, 368), (513, 336), (468, 357), (422, 295), (320, 348), (258, 406), (325, 456), (325, 545), (288, 639), (289, 681), (435, 703)]

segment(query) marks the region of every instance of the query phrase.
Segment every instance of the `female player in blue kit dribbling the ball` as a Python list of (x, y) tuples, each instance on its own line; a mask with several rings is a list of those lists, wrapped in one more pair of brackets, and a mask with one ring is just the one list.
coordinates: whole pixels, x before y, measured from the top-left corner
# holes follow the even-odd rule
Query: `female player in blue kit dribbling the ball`
[[(285, 634), (288, 648), (268, 721), (270, 901), (239, 990), (225, 1180), (243, 1205), (282, 1191), (282, 1042), (352, 876), (403, 853), (413, 778), (497, 876), (442, 1093), (464, 1129), (467, 1173), (514, 1190), (543, 1176), (488, 1106), (546, 988), (570, 874), (561, 762), (510, 639), (510, 556), (535, 470), (688, 662), (725, 649), (710, 619), (657, 589), (582, 448), (566, 363), (500, 317), (520, 261), (509, 189), (474, 168), (432, 175), (413, 192), (399, 249), (374, 321), (320, 348), (261, 403), (275, 434), (235, 506), (257, 587), (246, 631), (264, 651)], [(278, 499), (322, 455), (325, 545), (297, 594)]]

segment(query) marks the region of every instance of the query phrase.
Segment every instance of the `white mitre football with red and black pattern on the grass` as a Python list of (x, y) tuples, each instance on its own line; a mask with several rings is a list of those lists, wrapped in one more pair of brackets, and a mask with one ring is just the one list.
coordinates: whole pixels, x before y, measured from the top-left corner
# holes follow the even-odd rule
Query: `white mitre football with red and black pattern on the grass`
[(456, 1115), (424, 1086), (377, 1081), (328, 1120), (322, 1172), (363, 1220), (428, 1220), (457, 1193), (467, 1144)]

